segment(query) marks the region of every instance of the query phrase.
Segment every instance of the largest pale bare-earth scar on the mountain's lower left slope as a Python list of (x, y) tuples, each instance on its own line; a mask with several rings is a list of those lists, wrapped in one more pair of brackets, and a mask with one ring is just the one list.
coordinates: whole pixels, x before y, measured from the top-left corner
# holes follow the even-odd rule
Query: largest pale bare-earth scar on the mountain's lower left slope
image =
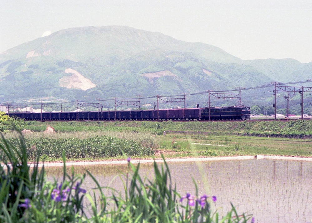
[(96, 85), (88, 78), (85, 78), (80, 73), (71, 68), (66, 69), (65, 73), (71, 73), (71, 76), (64, 76), (60, 79), (61, 87), (80, 89), (83, 91), (96, 87)]

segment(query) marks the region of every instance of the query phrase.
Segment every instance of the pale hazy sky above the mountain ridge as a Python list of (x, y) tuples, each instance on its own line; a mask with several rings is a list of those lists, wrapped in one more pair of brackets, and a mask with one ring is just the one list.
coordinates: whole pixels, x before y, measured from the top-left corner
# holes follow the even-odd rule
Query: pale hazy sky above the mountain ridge
[(241, 59), (312, 61), (312, 1), (0, 0), (0, 52), (61, 29), (126, 25)]

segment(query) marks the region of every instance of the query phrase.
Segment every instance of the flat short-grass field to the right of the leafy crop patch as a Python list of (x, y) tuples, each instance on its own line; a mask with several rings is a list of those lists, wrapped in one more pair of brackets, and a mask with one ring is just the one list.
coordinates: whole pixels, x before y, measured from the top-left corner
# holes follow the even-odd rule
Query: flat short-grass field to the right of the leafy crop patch
[(167, 156), (242, 156), (258, 154), (312, 157), (312, 140), (310, 139), (167, 134), (166, 136), (160, 136), (159, 141), (159, 150)]

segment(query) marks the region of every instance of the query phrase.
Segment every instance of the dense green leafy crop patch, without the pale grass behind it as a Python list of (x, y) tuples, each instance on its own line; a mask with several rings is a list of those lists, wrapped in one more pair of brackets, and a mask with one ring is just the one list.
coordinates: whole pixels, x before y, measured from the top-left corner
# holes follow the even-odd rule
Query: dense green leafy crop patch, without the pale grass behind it
[[(8, 139), (18, 146), (16, 138)], [(117, 137), (101, 136), (87, 139), (25, 139), (27, 155), (31, 160), (40, 156), (40, 161), (60, 159), (62, 151), (69, 159), (118, 158), (124, 152), (127, 156), (151, 156), (153, 148), (142, 147), (138, 142)], [(2, 154), (3, 156), (3, 154)]]

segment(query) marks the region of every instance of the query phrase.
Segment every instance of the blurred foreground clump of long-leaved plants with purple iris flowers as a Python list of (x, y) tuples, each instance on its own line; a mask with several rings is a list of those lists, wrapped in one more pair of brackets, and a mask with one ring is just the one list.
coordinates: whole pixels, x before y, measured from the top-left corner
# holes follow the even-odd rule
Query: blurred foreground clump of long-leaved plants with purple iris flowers
[[(238, 215), (234, 206), (223, 218), (218, 211), (213, 212), (211, 202), (214, 196), (196, 194), (182, 197), (172, 185), (167, 164), (161, 168), (154, 162), (155, 179), (142, 179), (139, 167), (128, 163), (124, 195), (112, 190), (106, 197), (103, 188), (95, 181), (97, 188), (88, 193), (83, 189), (85, 174), (77, 177), (66, 173), (65, 153), (63, 153), (63, 179), (60, 184), (44, 179), (45, 169), (37, 164), (31, 170), (27, 165), (27, 148), (22, 135), (19, 149), (4, 138), (0, 144), (4, 157), (0, 167), (0, 222), (211, 222), (246, 223), (251, 216)], [(13, 153), (14, 151), (14, 153)], [(129, 177), (129, 173), (131, 174)], [(195, 184), (196, 187), (196, 184)], [(97, 194), (95, 193), (97, 192)], [(114, 193), (115, 192), (115, 193)], [(90, 214), (84, 206), (84, 199), (91, 203)], [(198, 198), (198, 199), (197, 199)], [(184, 201), (183, 201), (184, 200)], [(110, 204), (112, 206), (110, 206)], [(254, 219), (251, 220), (254, 222)]]

